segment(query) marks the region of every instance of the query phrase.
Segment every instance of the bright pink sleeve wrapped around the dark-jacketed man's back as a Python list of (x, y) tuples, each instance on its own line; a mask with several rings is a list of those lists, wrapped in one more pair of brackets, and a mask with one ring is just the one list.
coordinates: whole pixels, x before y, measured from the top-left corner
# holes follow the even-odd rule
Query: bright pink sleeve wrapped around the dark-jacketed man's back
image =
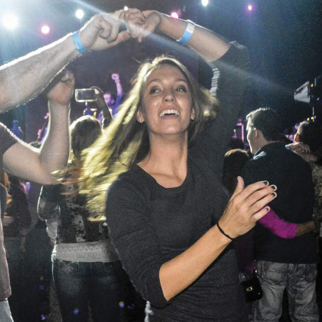
[(294, 238), (296, 235), (297, 224), (281, 219), (273, 210), (270, 210), (259, 222), (281, 238)]

